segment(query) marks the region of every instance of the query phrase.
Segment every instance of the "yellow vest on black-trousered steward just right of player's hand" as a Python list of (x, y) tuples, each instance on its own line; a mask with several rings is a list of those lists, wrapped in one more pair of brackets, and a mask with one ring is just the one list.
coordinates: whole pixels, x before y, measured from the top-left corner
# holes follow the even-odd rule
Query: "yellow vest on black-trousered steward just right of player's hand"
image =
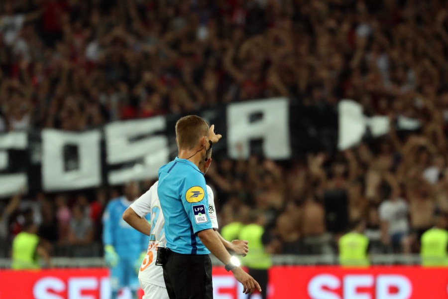
[(244, 226), (238, 236), (240, 240), (249, 242), (249, 252), (244, 258), (241, 258), (241, 264), (252, 269), (268, 269), (272, 266), (271, 257), (264, 251), (261, 237), (264, 228), (258, 224), (249, 224)]

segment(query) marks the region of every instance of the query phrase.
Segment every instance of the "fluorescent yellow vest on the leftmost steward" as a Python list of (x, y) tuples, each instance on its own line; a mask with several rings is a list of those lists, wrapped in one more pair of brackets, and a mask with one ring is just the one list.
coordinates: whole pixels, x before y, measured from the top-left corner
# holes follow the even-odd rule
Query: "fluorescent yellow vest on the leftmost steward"
[(36, 257), (36, 247), (39, 237), (34, 234), (21, 232), (12, 241), (12, 269), (39, 269)]

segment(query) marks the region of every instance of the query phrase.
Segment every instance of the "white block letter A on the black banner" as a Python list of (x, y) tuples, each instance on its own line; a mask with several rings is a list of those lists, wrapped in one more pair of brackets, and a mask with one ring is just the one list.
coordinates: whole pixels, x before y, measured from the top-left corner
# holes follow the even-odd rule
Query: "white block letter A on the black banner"
[[(261, 119), (251, 122), (251, 116), (257, 114), (261, 115)], [(263, 140), (263, 153), (266, 157), (290, 158), (288, 99), (274, 98), (228, 105), (227, 134), (228, 155), (232, 158), (240, 157), (238, 144), (242, 146), (243, 157), (247, 158), (250, 154), (250, 141), (256, 139)]]

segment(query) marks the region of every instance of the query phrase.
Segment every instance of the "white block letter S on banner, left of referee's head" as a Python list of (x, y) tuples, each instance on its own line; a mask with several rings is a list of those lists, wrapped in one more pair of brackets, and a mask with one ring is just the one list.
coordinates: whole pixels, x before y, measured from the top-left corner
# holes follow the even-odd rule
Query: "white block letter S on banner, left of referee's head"
[[(108, 164), (141, 160), (133, 167), (109, 172), (109, 183), (116, 185), (133, 179), (156, 178), (160, 166), (169, 161), (169, 149), (165, 136), (153, 134), (165, 128), (166, 120), (163, 116), (107, 125), (105, 134)], [(131, 140), (137, 138), (140, 139)]]

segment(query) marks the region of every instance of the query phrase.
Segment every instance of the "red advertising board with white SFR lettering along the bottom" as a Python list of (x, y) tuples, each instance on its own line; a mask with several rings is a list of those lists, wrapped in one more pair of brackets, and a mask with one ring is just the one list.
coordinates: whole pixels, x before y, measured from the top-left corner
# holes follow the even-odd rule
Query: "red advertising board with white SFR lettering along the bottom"
[[(0, 299), (109, 299), (107, 269), (0, 270)], [(213, 269), (214, 299), (243, 299), (222, 267)], [(445, 299), (448, 270), (421, 267), (273, 267), (269, 299)], [(260, 298), (259, 296), (252, 297)], [(124, 296), (123, 296), (124, 299)]]

